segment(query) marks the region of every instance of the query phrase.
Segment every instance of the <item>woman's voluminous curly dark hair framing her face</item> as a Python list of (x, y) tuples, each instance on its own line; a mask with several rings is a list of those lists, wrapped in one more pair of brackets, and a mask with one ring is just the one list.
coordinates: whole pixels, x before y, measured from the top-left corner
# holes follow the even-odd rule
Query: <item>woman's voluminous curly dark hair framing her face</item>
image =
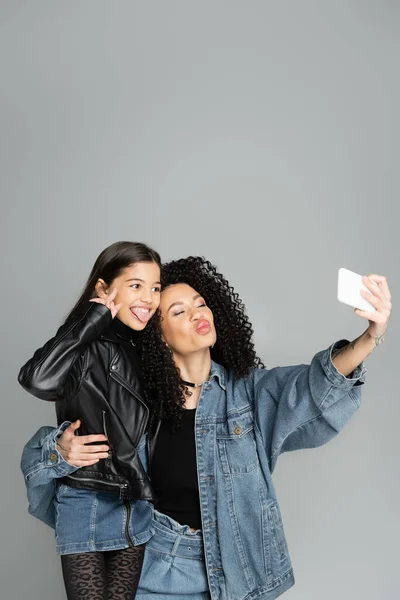
[[(264, 367), (253, 343), (253, 327), (243, 302), (214, 265), (200, 256), (189, 256), (166, 263), (161, 269), (163, 289), (186, 283), (206, 301), (214, 315), (217, 341), (211, 358), (233, 371), (235, 378), (245, 377), (254, 368)], [(161, 337), (161, 319), (156, 314), (142, 337), (142, 366), (145, 394), (154, 418), (181, 420), (185, 386), (175, 366), (172, 351)]]

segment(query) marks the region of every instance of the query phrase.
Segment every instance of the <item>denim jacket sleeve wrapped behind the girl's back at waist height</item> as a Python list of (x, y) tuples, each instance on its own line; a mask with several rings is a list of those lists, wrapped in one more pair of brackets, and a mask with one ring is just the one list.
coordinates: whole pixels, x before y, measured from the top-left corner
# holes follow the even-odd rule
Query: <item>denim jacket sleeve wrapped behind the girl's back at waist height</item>
[(77, 471), (59, 454), (57, 438), (70, 425), (65, 421), (60, 427), (41, 427), (25, 445), (21, 457), (28, 495), (28, 512), (50, 527), (55, 527), (54, 496), (56, 479)]

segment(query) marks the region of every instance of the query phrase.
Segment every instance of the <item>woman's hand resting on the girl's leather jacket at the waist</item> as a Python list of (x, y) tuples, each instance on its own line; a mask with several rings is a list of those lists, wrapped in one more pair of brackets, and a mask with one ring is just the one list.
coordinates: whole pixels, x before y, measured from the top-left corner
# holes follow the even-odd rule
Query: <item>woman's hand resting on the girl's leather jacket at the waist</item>
[(107, 442), (103, 434), (75, 435), (81, 422), (78, 419), (71, 423), (64, 433), (57, 439), (57, 450), (67, 463), (74, 467), (89, 467), (95, 465), (102, 458), (107, 458), (110, 448), (108, 445), (88, 446), (93, 442)]

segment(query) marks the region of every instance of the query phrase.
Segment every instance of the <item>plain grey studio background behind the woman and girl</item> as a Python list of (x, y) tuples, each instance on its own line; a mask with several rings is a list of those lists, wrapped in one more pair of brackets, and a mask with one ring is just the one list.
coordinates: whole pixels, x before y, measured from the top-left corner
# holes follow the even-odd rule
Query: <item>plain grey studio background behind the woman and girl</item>
[[(105, 246), (206, 255), (268, 366), (363, 331), (339, 267), (397, 299), (399, 17), (390, 0), (1, 0), (1, 598), (65, 598), (19, 471), (53, 407), (16, 374)], [(395, 312), (343, 433), (280, 460), (285, 598), (400, 596), (399, 333)]]

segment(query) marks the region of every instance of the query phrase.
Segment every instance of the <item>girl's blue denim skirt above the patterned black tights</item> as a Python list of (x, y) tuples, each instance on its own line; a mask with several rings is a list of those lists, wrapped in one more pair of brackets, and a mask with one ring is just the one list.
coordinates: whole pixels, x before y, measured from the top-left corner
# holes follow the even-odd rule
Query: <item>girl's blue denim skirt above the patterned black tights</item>
[(122, 500), (112, 492), (57, 486), (58, 554), (120, 550), (144, 544), (153, 535), (153, 505)]

